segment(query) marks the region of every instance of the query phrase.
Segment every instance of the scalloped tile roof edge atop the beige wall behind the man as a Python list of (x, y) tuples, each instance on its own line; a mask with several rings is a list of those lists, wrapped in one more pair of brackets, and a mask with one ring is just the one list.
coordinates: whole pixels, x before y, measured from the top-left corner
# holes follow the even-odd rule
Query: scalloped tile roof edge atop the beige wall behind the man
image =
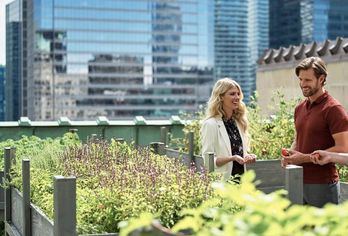
[(312, 42), (309, 44), (291, 45), (288, 48), (267, 49), (257, 60), (259, 66), (274, 65), (302, 60), (306, 57), (334, 57), (347, 56), (348, 38), (338, 37), (336, 40), (325, 40), (324, 42)]

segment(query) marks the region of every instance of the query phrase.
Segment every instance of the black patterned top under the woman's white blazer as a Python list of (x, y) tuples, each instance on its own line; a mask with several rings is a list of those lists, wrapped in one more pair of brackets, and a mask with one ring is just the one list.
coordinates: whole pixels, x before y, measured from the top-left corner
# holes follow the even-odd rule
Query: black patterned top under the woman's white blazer
[[(237, 124), (235, 120), (225, 120), (223, 119), (228, 137), (230, 138), (231, 142), (231, 150), (232, 155), (239, 155), (243, 157), (243, 142), (242, 138), (240, 137), (240, 133), (237, 128)], [(239, 164), (237, 161), (233, 161), (233, 168), (232, 168), (232, 176), (235, 176), (237, 174), (241, 175), (244, 173), (244, 166)]]

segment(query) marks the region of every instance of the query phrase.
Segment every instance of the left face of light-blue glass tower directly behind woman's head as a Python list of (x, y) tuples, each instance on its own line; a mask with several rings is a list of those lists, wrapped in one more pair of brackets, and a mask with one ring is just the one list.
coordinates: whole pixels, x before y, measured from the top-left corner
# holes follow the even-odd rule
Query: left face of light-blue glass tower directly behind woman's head
[(230, 77), (250, 96), (253, 71), (248, 47), (248, 1), (215, 1), (214, 68), (216, 78)]

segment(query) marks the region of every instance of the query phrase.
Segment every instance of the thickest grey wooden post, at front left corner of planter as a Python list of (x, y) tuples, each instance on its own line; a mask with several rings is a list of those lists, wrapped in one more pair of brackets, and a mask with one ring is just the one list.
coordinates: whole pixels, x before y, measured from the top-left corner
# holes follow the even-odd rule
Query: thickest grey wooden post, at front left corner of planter
[(54, 236), (77, 236), (76, 178), (54, 176)]

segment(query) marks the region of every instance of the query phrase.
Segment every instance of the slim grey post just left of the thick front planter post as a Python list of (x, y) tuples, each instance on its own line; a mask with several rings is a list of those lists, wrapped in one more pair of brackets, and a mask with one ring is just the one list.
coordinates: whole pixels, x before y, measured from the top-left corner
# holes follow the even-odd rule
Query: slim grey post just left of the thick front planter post
[(31, 235), (30, 212), (30, 161), (22, 160), (22, 188), (23, 188), (23, 236)]

